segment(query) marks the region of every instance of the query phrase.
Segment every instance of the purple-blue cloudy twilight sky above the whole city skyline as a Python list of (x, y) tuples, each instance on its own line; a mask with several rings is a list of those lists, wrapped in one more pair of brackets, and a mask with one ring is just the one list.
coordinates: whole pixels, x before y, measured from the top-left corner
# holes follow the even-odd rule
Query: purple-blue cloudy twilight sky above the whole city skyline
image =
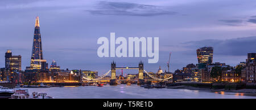
[[(256, 52), (255, 0), (24, 0), (0, 1), (0, 67), (5, 52), (22, 55), (22, 69), (30, 65), (35, 17), (39, 16), (43, 57), (54, 59), (61, 69), (108, 72), (117, 67), (137, 67), (144, 61), (147, 71), (171, 71), (197, 63), (196, 49), (214, 48), (213, 62), (236, 65), (247, 52)], [(159, 62), (148, 58), (99, 58), (97, 39), (115, 37), (159, 37)], [(137, 73), (137, 71), (133, 71)]]

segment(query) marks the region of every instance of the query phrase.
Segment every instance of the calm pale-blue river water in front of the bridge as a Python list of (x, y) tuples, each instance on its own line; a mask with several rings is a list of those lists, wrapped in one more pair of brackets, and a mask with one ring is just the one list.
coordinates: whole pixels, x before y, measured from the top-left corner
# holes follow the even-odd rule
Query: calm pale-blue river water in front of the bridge
[(65, 86), (48, 88), (28, 88), (28, 92), (44, 92), (56, 99), (177, 99), (177, 98), (249, 98), (256, 99), (256, 96), (247, 96), (241, 93), (213, 93), (201, 90), (187, 89), (144, 89), (137, 85), (118, 86)]

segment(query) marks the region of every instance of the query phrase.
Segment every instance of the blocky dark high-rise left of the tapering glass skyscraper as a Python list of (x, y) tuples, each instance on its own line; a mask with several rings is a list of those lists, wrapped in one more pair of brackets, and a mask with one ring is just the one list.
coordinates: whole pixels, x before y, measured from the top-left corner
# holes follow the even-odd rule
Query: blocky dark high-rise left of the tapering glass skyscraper
[(21, 56), (14, 56), (12, 55), (11, 50), (7, 50), (5, 53), (5, 68), (9, 70), (22, 71)]

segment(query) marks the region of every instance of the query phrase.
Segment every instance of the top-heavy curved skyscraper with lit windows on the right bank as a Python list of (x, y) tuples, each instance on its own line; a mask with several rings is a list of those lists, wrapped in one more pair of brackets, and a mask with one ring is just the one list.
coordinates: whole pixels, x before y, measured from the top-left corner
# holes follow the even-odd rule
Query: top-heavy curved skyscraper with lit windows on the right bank
[(213, 47), (201, 47), (196, 50), (198, 63), (212, 63)]

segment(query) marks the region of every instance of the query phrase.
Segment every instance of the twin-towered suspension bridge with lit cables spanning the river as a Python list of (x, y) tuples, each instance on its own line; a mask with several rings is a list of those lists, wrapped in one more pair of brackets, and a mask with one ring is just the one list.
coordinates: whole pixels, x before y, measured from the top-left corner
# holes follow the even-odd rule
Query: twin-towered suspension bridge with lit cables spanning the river
[[(116, 75), (117, 75), (116, 70), (117, 69), (138, 69), (138, 72), (139, 72), (138, 79), (137, 80), (118, 80), (117, 77), (116, 77)], [(144, 80), (143, 72), (145, 72), (152, 79), (151, 80)], [(108, 72), (106, 72), (105, 74), (103, 74), (102, 76), (100, 76), (98, 78), (94, 78), (92, 80), (90, 80), (86, 77), (83, 77), (83, 80), (84, 81), (106, 81), (106, 80), (103, 80), (102, 78), (106, 77), (109, 73), (111, 73), (110, 80), (109, 80), (110, 85), (117, 85), (118, 81), (126, 81), (126, 82), (137, 81), (138, 85), (141, 85), (142, 83), (144, 83), (144, 81), (167, 81), (170, 78), (172, 78), (172, 76), (168, 77), (168, 78), (164, 78), (164, 79), (152, 76), (150, 73), (148, 73), (146, 70), (144, 70), (144, 64), (143, 64), (142, 61), (139, 62), (138, 67), (117, 67), (115, 62), (113, 61), (111, 63), (110, 70)]]

